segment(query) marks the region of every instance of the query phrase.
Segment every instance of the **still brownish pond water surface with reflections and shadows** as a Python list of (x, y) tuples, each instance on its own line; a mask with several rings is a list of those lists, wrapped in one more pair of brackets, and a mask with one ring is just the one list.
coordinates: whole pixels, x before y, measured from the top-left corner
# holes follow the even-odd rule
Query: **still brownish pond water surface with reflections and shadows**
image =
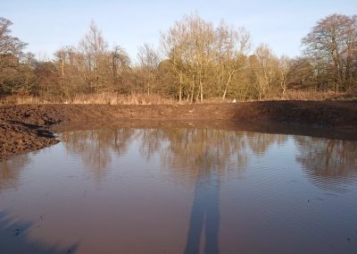
[(0, 164), (0, 253), (357, 253), (357, 141), (57, 135)]

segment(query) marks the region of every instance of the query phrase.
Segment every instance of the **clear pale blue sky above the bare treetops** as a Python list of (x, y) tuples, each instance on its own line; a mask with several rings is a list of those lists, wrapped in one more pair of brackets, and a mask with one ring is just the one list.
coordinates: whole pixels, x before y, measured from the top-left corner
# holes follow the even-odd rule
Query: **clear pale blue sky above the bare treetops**
[(331, 13), (357, 14), (356, 0), (0, 0), (0, 16), (36, 55), (52, 57), (61, 46), (77, 46), (94, 20), (109, 45), (131, 57), (143, 43), (158, 45), (160, 31), (184, 14), (198, 13), (217, 24), (225, 20), (250, 30), (253, 45), (267, 43), (277, 55), (300, 54), (300, 41), (316, 21)]

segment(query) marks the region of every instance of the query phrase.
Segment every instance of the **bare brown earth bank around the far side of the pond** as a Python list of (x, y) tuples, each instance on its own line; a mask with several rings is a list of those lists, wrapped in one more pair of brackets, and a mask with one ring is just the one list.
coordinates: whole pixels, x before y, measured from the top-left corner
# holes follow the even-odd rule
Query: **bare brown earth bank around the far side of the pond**
[[(357, 103), (334, 101), (266, 101), (220, 105), (169, 105), (169, 106), (109, 106), (109, 105), (21, 105), (0, 106), (0, 160), (14, 154), (27, 152), (58, 142), (49, 128), (85, 121), (112, 121), (124, 123), (172, 122), (172, 127), (187, 126), (245, 128), (242, 123), (298, 123), (314, 127), (357, 130)], [(193, 123), (195, 122), (195, 123)], [(61, 124), (59, 124), (61, 123)], [(217, 123), (219, 126), (217, 126)], [(185, 124), (181, 124), (185, 126)], [(74, 124), (75, 125), (75, 124)], [(201, 124), (202, 125), (202, 124)], [(60, 128), (60, 127), (58, 127)], [(274, 132), (273, 127), (269, 127)], [(284, 131), (285, 127), (280, 127)], [(316, 129), (315, 129), (316, 132)], [(317, 131), (319, 132), (319, 131)], [(309, 131), (304, 132), (309, 135)], [(311, 134), (312, 131), (311, 131)]]

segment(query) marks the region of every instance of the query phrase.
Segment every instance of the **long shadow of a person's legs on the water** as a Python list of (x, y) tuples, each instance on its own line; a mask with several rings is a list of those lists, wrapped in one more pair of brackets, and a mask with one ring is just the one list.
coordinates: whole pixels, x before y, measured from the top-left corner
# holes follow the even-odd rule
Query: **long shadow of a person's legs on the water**
[(199, 171), (195, 185), (195, 199), (191, 211), (185, 254), (200, 252), (204, 232), (204, 253), (219, 253), (219, 180), (212, 171)]

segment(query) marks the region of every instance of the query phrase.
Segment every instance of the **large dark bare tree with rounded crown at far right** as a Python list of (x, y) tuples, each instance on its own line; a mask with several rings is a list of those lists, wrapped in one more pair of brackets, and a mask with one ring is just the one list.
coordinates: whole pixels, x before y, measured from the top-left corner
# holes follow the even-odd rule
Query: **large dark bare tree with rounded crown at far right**
[[(318, 21), (303, 38), (305, 54), (324, 64), (327, 75), (332, 73), (334, 90), (350, 89), (353, 82), (353, 55), (357, 48), (357, 18), (355, 15), (332, 14)], [(330, 72), (332, 71), (332, 72)]]

